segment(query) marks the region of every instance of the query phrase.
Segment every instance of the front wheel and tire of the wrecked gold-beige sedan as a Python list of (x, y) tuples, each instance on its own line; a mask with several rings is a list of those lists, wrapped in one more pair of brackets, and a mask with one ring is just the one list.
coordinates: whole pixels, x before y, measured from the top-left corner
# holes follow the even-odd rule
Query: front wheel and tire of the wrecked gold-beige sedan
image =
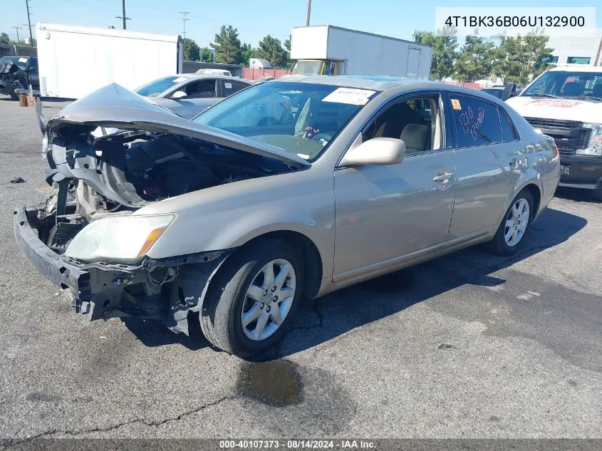
[[(275, 281), (266, 294), (264, 288), (269, 286), (266, 286), (265, 271), (270, 263)], [(283, 290), (274, 291), (276, 284), (281, 283), (279, 274), (284, 274), (280, 271), (284, 271), (287, 264), (292, 269), (287, 273), (289, 278), (282, 285)], [(294, 286), (292, 296), (291, 286)], [(290, 244), (281, 239), (266, 239), (239, 249), (224, 262), (209, 285), (199, 316), (204, 336), (234, 356), (244, 358), (266, 351), (281, 340), (292, 323), (301, 303), (303, 286), (303, 260)], [(249, 295), (251, 290), (255, 299)], [(276, 299), (278, 294), (283, 299)], [(244, 326), (243, 321), (257, 312), (259, 317)], [(279, 326), (274, 313), (281, 316)], [(260, 333), (259, 321), (262, 320), (265, 326)]]

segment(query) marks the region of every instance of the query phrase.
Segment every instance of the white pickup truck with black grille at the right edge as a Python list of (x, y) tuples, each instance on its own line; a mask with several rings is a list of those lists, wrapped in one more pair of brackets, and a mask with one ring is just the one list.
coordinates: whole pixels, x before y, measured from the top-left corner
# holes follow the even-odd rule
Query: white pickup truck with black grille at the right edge
[(556, 141), (560, 185), (602, 200), (602, 68), (552, 68), (507, 102)]

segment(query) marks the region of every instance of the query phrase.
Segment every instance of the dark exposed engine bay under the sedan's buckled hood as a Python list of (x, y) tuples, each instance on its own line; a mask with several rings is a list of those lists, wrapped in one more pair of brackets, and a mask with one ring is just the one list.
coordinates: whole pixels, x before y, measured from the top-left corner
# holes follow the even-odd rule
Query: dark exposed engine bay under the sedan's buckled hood
[(50, 185), (38, 229), (61, 253), (86, 224), (109, 214), (131, 214), (149, 202), (216, 185), (294, 170), (261, 155), (171, 133), (69, 125), (53, 130), (46, 158)]

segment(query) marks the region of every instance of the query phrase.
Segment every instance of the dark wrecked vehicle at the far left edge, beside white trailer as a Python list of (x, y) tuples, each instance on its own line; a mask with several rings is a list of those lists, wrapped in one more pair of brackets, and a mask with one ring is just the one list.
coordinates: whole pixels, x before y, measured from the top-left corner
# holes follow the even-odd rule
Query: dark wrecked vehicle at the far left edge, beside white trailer
[(18, 100), (16, 88), (40, 89), (38, 58), (36, 56), (3, 56), (0, 58), (0, 94)]

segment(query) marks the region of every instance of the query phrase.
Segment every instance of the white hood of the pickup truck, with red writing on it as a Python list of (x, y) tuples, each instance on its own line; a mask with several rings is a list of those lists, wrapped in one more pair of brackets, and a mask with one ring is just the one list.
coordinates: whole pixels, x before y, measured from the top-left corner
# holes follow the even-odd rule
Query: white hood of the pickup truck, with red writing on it
[(509, 98), (506, 103), (524, 118), (602, 123), (602, 102), (518, 95)]

